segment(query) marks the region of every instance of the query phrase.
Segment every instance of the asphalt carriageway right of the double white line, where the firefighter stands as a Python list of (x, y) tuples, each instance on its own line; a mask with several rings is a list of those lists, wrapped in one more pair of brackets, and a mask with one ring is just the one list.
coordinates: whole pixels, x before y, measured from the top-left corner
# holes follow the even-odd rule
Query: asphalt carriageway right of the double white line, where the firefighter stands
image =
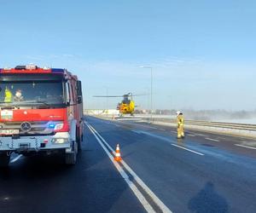
[(255, 212), (256, 152), (236, 146), (255, 141), (198, 131), (177, 141), (163, 126), (86, 120), (110, 147), (120, 144), (125, 162), (173, 212)]

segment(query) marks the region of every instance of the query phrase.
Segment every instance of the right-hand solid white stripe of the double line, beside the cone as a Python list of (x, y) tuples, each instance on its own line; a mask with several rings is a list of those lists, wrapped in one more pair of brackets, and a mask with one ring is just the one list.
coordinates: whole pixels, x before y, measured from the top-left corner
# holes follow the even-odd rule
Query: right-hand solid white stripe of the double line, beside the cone
[[(105, 141), (103, 138), (102, 138), (102, 135), (100, 135), (90, 124), (87, 124), (87, 126), (90, 126), (91, 130), (93, 130), (97, 136), (99, 136), (99, 138), (102, 139), (103, 143), (108, 147), (109, 150), (112, 151), (113, 154), (115, 154), (114, 150), (112, 147), (110, 147), (108, 145), (108, 142)], [(113, 157), (112, 157), (113, 158)], [(114, 161), (115, 162), (115, 161)], [(140, 185), (140, 187), (143, 188), (143, 190), (148, 193), (148, 195), (150, 196), (151, 199), (154, 200), (154, 203), (157, 204), (160, 208), (160, 210), (162, 210), (163, 212), (169, 212), (169, 213), (172, 213), (172, 210), (169, 210), (169, 208), (166, 206), (166, 204), (164, 204), (152, 191), (151, 189), (143, 182), (143, 180), (137, 176), (137, 174), (131, 170), (131, 167), (125, 163), (124, 160), (121, 161), (121, 164), (124, 165), (125, 167), (125, 170), (127, 170), (131, 176), (133, 176), (133, 178), (135, 179), (135, 181), (137, 181), (137, 183)]]

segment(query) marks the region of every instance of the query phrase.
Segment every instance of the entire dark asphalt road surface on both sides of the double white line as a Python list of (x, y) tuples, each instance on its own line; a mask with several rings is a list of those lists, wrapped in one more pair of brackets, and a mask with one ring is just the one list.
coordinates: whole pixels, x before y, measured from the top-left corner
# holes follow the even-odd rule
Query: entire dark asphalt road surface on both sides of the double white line
[[(256, 212), (256, 141), (86, 117), (75, 166), (12, 156), (0, 212)], [(113, 160), (119, 144), (122, 161)]]

